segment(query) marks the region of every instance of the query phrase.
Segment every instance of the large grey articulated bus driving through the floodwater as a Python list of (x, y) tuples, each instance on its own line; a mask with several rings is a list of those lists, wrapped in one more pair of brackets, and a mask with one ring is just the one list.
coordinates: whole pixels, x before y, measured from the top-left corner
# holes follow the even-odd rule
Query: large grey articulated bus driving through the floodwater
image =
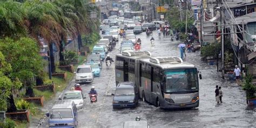
[(123, 52), (116, 56), (117, 83), (134, 82), (143, 101), (164, 109), (199, 106), (198, 71), (194, 65), (179, 57), (138, 57), (136, 52), (133, 57), (129, 55)]

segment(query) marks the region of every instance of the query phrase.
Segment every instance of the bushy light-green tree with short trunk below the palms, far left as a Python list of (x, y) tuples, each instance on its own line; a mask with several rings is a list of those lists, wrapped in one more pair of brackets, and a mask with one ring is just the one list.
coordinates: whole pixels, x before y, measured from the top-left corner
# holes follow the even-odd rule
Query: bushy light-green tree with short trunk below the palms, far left
[(38, 54), (39, 46), (36, 41), (24, 37), (17, 41), (5, 38), (0, 41), (0, 51), (4, 54), (6, 62), (11, 65), (10, 78), (21, 80), (23, 86), (26, 87), (25, 95), (35, 97), (34, 79), (43, 71), (42, 57)]

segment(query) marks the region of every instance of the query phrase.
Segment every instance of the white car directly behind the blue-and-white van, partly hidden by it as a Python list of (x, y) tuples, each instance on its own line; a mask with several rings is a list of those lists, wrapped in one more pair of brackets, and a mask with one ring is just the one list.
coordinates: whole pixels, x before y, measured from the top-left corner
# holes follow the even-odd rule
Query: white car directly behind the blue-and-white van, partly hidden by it
[(71, 90), (66, 91), (62, 96), (59, 97), (59, 100), (71, 100), (75, 103), (77, 109), (82, 109), (84, 107), (85, 97), (82, 94), (82, 91)]

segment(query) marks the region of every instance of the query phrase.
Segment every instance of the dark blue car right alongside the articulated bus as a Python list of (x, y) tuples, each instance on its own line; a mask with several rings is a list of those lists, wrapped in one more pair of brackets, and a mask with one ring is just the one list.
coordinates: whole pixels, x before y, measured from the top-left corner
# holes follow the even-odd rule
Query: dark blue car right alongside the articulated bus
[(112, 94), (113, 109), (136, 107), (138, 105), (138, 93), (132, 82), (119, 83), (116, 91)]

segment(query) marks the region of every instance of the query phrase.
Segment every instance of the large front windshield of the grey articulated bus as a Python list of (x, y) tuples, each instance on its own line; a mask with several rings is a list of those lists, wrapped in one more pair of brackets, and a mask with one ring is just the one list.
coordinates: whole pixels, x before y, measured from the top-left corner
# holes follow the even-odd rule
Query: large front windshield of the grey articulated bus
[(165, 92), (198, 91), (197, 69), (165, 70)]

